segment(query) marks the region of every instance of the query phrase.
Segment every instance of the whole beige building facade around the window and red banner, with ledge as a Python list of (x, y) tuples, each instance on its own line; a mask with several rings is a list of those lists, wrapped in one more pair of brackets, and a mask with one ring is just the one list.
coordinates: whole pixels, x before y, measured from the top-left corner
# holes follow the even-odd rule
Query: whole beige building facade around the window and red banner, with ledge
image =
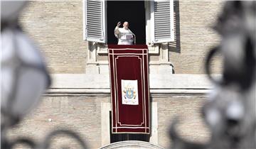
[[(144, 32), (138, 33), (144, 34), (142, 38), (145, 40), (137, 40), (149, 46), (149, 143), (164, 148), (171, 145), (168, 129), (177, 115), (181, 118), (178, 128), (181, 136), (200, 141), (207, 141), (210, 137), (201, 118), (201, 106), (211, 89), (204, 62), (208, 50), (220, 40), (211, 26), (223, 6), (221, 1), (171, 2), (169, 12), (173, 18), (169, 19), (173, 23), (173, 28), (170, 27), (173, 36), (171, 42), (163, 40), (159, 43), (151, 42), (153, 27), (150, 22), (151, 13), (154, 13), (151, 4), (154, 1), (125, 1), (134, 7), (144, 5), (144, 11), (134, 11), (144, 12)], [(11, 137), (24, 135), (40, 140), (53, 128), (67, 127), (79, 132), (90, 148), (101, 148), (112, 142), (106, 47), (114, 42), (111, 35), (114, 35), (116, 26), (116, 23), (108, 23), (115, 21), (110, 19), (109, 13), (118, 12), (107, 8), (114, 8), (115, 4), (120, 6), (122, 2), (104, 3), (105, 9), (101, 9), (101, 13), (107, 13), (102, 21), (107, 31), (105, 43), (85, 40), (85, 1), (30, 1), (24, 9), (21, 25), (41, 48), (53, 84), (43, 95), (38, 108), (11, 130)], [(129, 18), (124, 19), (129, 21)], [(136, 23), (130, 25), (136, 31)], [(212, 71), (218, 74), (221, 69), (221, 58), (215, 57)], [(56, 140), (56, 144), (67, 141), (70, 140), (63, 138)], [(69, 144), (75, 146), (73, 141)]]

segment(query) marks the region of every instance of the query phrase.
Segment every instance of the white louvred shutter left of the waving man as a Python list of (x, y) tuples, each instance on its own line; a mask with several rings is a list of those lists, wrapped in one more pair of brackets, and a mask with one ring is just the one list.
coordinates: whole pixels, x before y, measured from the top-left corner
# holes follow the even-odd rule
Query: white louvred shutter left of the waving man
[(105, 0), (83, 0), (84, 40), (105, 43)]

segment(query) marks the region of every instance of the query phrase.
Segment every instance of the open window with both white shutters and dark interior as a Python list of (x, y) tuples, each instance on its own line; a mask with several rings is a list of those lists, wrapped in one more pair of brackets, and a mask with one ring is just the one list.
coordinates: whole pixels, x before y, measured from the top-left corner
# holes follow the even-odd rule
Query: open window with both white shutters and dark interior
[(174, 1), (83, 0), (84, 39), (116, 44), (114, 27), (129, 21), (137, 44), (174, 41)]

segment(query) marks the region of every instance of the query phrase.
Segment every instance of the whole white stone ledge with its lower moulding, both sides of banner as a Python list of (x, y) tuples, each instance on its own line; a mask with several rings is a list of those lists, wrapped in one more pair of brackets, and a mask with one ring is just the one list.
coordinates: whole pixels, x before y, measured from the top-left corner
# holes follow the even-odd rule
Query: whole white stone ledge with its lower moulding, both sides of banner
[[(110, 76), (54, 74), (46, 96), (110, 96)], [(63, 81), (65, 80), (65, 81)], [(206, 75), (149, 75), (151, 97), (208, 94), (212, 84)]]

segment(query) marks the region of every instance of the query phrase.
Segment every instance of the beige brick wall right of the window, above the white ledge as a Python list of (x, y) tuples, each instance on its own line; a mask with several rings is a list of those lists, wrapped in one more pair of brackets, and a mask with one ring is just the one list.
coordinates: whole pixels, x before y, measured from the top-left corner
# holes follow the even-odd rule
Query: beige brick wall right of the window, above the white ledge
[[(203, 74), (209, 48), (220, 36), (210, 26), (215, 24), (222, 1), (175, 1), (176, 42), (169, 43), (169, 60), (176, 74)], [(213, 72), (221, 70), (221, 58), (215, 58)]]

